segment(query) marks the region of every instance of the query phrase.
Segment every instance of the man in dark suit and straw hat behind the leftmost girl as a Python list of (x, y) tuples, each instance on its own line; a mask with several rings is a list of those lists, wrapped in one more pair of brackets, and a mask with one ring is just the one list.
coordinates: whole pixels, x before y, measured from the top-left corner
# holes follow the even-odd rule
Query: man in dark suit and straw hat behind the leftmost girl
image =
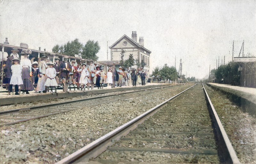
[[(8, 90), (8, 95), (10, 95), (10, 93), (12, 92), (12, 85), (10, 85), (10, 80), (12, 78), (12, 59), (14, 58), (19, 58), (18, 52), (19, 50), (17, 48), (12, 48), (11, 50), (11, 55), (10, 57), (8, 57), (8, 59), (6, 60), (6, 65), (4, 67), (4, 73), (5, 73), (5, 78), (3, 80), (4, 84), (8, 84), (6, 86), (6, 90)], [(18, 87), (15, 86), (15, 95), (18, 94)]]

